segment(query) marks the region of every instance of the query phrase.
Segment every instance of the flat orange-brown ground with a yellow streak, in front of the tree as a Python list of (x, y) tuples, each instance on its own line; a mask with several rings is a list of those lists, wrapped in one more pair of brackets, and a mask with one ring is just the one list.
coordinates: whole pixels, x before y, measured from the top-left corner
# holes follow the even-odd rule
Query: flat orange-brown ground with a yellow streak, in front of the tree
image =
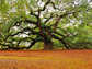
[(92, 50), (0, 50), (0, 69), (92, 69)]

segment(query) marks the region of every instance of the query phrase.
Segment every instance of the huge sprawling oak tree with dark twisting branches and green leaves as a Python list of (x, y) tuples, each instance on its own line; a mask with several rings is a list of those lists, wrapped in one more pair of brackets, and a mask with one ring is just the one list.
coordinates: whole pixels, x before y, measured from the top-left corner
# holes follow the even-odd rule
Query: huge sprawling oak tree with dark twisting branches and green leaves
[[(44, 43), (44, 49), (53, 49), (53, 39), (67, 49), (76, 48), (69, 39), (78, 35), (80, 24), (92, 22), (91, 0), (1, 0), (0, 4), (0, 44), (9, 49), (30, 49), (37, 42)], [(25, 42), (28, 46), (20, 47)]]

